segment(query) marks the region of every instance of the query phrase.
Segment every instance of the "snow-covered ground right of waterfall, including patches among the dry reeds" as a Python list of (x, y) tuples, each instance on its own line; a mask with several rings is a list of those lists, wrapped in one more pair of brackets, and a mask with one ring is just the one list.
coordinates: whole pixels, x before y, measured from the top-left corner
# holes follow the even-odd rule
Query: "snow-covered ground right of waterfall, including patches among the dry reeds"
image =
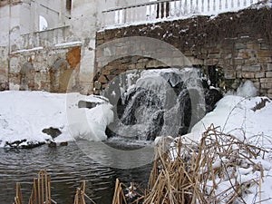
[[(228, 159), (222, 159), (226, 162), (222, 164), (220, 156), (214, 160), (213, 166), (226, 165), (225, 168), (226, 170), (229, 168), (229, 174), (235, 172), (234, 178), (215, 178), (218, 188), (215, 189), (214, 194), (231, 194), (232, 185), (236, 180), (238, 183), (235, 185), (243, 186), (242, 183), (248, 183), (248, 186), (244, 185), (244, 189), (241, 189), (240, 197), (243, 199), (237, 200), (237, 203), (269, 204), (272, 203), (272, 101), (267, 97), (254, 96), (256, 91), (253, 83), (247, 81), (239, 87), (238, 92), (226, 94), (217, 103), (215, 110), (209, 112), (186, 136), (194, 141), (199, 141), (202, 133), (213, 124), (214, 127), (218, 127), (218, 131), (233, 135), (239, 141), (267, 151), (265, 156), (251, 159), (240, 158), (245, 163), (250, 161), (245, 167), (243, 167), (243, 162), (239, 163), (238, 160), (240, 166), (236, 168), (228, 167), (228, 163), (231, 163)], [(224, 154), (224, 152), (221, 153)], [(253, 168), (253, 163), (261, 165), (260, 170)], [(211, 180), (209, 184), (212, 185)], [(226, 202), (222, 200), (220, 203)]]

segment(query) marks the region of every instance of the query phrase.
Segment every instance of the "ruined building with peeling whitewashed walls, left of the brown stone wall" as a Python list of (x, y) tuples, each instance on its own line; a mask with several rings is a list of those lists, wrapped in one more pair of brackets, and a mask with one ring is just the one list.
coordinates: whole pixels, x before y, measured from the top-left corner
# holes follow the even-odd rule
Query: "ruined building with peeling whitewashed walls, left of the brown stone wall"
[(101, 29), (102, 9), (119, 4), (1, 0), (0, 90), (92, 92), (95, 34)]

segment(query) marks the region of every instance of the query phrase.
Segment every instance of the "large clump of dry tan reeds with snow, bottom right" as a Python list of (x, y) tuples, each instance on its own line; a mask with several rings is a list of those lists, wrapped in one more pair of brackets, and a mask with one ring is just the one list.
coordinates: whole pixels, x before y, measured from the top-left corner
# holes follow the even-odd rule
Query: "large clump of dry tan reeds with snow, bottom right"
[(250, 187), (261, 190), (263, 169), (255, 160), (266, 151), (213, 125), (199, 143), (180, 138), (168, 151), (156, 149), (144, 204), (246, 203)]

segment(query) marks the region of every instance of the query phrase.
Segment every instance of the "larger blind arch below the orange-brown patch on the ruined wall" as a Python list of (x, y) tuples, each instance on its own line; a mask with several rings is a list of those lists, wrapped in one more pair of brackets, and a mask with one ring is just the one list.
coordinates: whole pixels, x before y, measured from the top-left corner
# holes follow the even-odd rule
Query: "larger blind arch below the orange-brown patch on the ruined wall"
[(50, 69), (50, 91), (66, 92), (73, 69), (70, 69), (66, 60), (59, 59)]

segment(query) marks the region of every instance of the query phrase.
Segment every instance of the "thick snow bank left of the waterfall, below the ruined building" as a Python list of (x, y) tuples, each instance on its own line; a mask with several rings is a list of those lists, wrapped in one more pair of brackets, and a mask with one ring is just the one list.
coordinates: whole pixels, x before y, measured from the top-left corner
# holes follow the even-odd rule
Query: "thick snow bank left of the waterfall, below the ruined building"
[[(95, 102), (92, 109), (79, 108), (78, 102)], [(106, 125), (113, 120), (112, 105), (102, 97), (80, 93), (0, 92), (0, 147), (6, 142), (26, 140), (21, 145), (52, 141), (45, 128), (62, 134), (54, 141), (83, 138), (102, 141)]]

